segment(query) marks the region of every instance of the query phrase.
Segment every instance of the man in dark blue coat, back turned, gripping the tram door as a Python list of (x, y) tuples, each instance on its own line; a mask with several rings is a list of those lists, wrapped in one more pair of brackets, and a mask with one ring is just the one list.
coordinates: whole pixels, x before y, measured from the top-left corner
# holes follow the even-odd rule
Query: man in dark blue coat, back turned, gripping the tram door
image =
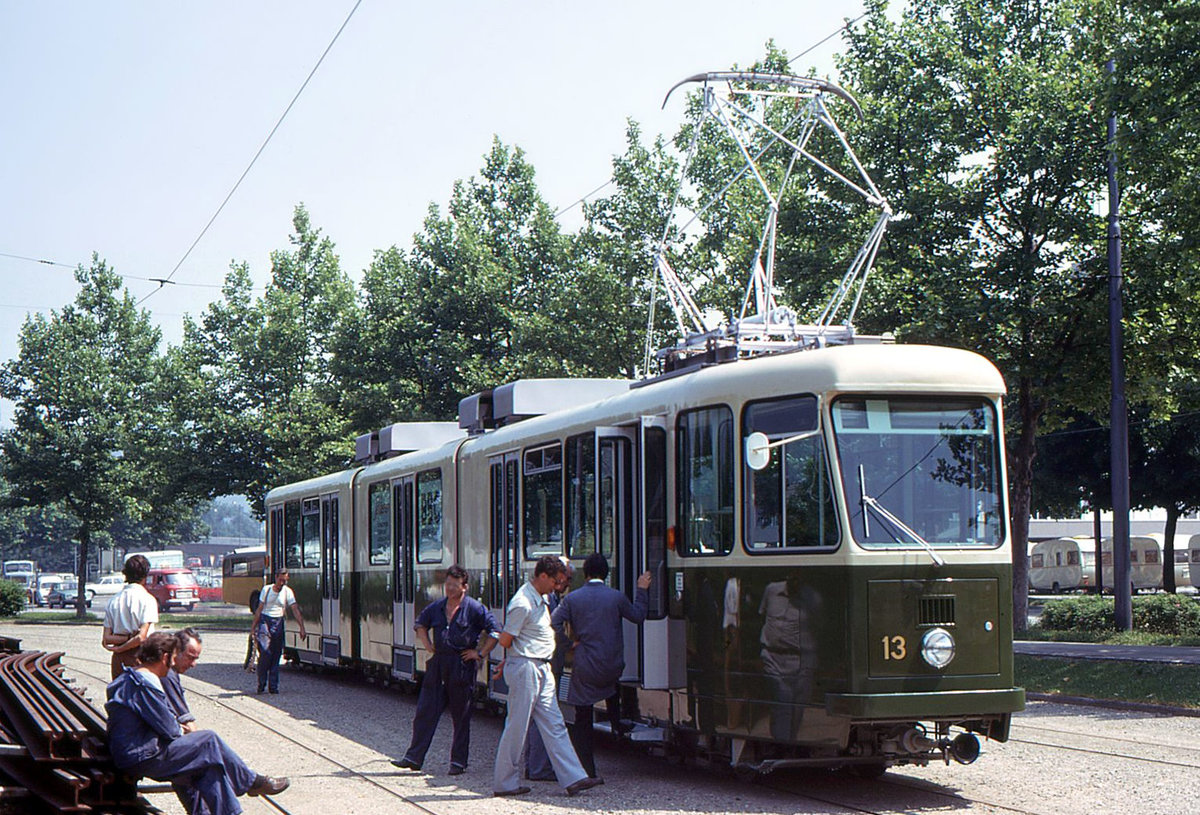
[(643, 573), (637, 579), (632, 603), (623, 593), (605, 586), (608, 562), (600, 552), (593, 552), (583, 561), (583, 576), (588, 582), (563, 598), (552, 621), (556, 630), (571, 627), (575, 663), (571, 688), (566, 691), (566, 702), (575, 706), (571, 743), (588, 777), (596, 778), (592, 707), (604, 701), (613, 735), (620, 733), (618, 683), (625, 671), (625, 637), (620, 621), (624, 618), (636, 625), (646, 619), (650, 573)]

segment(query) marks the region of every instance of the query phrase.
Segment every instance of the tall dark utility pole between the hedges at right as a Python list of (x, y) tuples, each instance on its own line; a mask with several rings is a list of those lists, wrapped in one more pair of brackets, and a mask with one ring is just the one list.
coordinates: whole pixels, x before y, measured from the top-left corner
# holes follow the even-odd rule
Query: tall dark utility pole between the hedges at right
[[(1105, 66), (1110, 88), (1116, 62)], [(1133, 629), (1129, 586), (1129, 415), (1124, 396), (1124, 349), (1121, 332), (1121, 193), (1117, 190), (1116, 95), (1109, 113), (1109, 353), (1112, 371), (1112, 597), (1117, 630)]]

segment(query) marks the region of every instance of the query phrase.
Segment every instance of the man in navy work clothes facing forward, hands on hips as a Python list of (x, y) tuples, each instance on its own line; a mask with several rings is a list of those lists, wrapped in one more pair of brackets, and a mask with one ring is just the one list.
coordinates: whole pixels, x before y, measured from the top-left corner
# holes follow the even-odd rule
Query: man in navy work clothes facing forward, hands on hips
[[(416, 697), (413, 741), (403, 759), (391, 763), (402, 769), (420, 769), (433, 742), (442, 712), (450, 709), (454, 742), (450, 745), (450, 774), (467, 769), (470, 748), (470, 714), (474, 711), (475, 678), (479, 666), (496, 647), (496, 619), (479, 600), (467, 597), (467, 570), (446, 569), (445, 597), (425, 606), (414, 630), (421, 646), (433, 655), (425, 664), (421, 694)], [(430, 630), (433, 642), (430, 642)]]

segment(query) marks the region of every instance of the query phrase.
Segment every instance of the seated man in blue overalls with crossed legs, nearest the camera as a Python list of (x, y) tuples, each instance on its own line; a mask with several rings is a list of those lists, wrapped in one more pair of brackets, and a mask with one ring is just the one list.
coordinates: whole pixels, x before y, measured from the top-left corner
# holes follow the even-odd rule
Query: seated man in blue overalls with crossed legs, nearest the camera
[(180, 781), (191, 815), (239, 815), (239, 796), (275, 795), (289, 781), (256, 774), (211, 730), (182, 732), (162, 684), (178, 642), (151, 634), (138, 648), (139, 666), (108, 684), (109, 753), (131, 775)]

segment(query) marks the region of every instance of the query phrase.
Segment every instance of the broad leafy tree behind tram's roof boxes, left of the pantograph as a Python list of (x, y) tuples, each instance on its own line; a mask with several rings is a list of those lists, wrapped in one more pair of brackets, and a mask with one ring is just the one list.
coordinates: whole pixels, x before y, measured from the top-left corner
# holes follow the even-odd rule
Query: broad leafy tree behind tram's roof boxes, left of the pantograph
[(564, 322), (577, 294), (568, 251), (524, 154), (493, 142), (445, 216), (431, 205), (412, 248), (378, 252), (364, 277), (336, 359), (358, 430), (451, 419), (460, 397), (484, 388), (577, 372), (575, 344), (558, 343), (587, 335)]

